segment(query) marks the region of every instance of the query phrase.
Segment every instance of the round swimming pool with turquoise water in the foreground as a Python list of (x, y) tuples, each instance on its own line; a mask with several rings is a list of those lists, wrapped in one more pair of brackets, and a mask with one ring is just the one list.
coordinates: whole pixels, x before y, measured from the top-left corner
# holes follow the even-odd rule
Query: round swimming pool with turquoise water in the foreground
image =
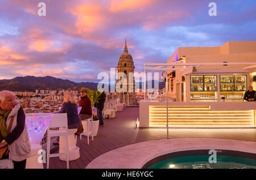
[(210, 149), (180, 151), (162, 155), (148, 161), (148, 169), (256, 169), (256, 154)]

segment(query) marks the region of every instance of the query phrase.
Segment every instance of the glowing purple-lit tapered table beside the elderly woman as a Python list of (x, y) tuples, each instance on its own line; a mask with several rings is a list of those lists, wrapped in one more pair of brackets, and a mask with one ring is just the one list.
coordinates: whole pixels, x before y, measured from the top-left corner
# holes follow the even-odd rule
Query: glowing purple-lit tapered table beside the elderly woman
[(40, 144), (51, 122), (51, 113), (27, 113), (26, 125), (31, 143)]

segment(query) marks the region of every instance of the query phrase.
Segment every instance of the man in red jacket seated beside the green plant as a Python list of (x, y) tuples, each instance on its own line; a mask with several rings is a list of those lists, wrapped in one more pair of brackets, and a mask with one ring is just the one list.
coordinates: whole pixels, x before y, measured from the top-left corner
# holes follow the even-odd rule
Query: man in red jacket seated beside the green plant
[[(92, 117), (92, 106), (89, 97), (87, 96), (87, 90), (85, 88), (81, 89), (81, 99), (79, 101), (79, 106), (82, 107), (79, 116), (81, 118), (81, 121), (84, 119), (89, 119)], [(82, 128), (82, 123), (79, 128), (77, 128), (76, 135), (80, 135), (81, 132), (84, 131), (84, 128)]]

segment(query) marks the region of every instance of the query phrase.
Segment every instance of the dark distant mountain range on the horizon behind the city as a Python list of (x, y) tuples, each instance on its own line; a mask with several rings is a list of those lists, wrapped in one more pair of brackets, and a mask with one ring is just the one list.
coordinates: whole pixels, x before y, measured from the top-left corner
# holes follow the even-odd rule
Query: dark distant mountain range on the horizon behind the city
[[(141, 83), (140, 83), (141, 84)], [(152, 82), (154, 84), (154, 82)], [(81, 82), (75, 83), (71, 80), (63, 80), (60, 78), (54, 78), (52, 76), (35, 77), (35, 76), (24, 76), (16, 77), (13, 79), (0, 80), (0, 91), (21, 91), (21, 92), (35, 92), (36, 89), (43, 90), (72, 90), (79, 91), (81, 87), (86, 87), (92, 90), (97, 89), (98, 83), (93, 82)], [(163, 82), (159, 82), (159, 89), (164, 87)], [(143, 88), (143, 87), (142, 87)]]

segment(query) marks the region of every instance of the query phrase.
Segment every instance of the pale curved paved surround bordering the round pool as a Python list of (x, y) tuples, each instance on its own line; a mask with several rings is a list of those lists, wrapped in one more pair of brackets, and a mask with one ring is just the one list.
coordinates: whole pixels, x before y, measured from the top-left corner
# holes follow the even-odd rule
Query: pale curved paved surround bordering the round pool
[(141, 169), (155, 157), (196, 149), (224, 149), (256, 153), (256, 142), (220, 138), (172, 138), (126, 145), (98, 156), (86, 169)]

